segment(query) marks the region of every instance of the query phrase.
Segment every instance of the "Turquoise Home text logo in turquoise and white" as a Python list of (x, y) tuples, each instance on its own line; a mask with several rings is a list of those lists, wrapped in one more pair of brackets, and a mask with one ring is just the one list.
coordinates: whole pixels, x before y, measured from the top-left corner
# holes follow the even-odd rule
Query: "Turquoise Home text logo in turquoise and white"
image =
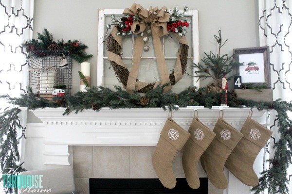
[(2, 174), (3, 188), (18, 188), (19, 193), (50, 193), (51, 189), (42, 189), (42, 175), (18, 175), (17, 169), (6, 168)]

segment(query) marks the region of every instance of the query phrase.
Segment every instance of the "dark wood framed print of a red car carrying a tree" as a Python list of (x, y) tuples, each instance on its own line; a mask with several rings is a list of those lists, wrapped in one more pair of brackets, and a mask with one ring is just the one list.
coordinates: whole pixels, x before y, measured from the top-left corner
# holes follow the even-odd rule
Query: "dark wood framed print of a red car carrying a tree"
[(235, 67), (242, 83), (271, 88), (269, 47), (233, 49), (233, 54), (235, 61), (243, 64)]

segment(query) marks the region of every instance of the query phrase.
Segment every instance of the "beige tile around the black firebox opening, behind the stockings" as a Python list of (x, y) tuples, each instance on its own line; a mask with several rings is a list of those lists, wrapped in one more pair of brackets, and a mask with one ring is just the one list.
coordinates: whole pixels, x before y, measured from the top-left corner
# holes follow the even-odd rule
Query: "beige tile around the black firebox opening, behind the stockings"
[[(75, 188), (89, 194), (89, 178), (157, 178), (152, 167), (155, 146), (73, 146)], [(172, 169), (176, 178), (184, 178), (181, 150)], [(199, 163), (199, 177), (206, 177)], [(209, 194), (223, 190), (208, 183)]]

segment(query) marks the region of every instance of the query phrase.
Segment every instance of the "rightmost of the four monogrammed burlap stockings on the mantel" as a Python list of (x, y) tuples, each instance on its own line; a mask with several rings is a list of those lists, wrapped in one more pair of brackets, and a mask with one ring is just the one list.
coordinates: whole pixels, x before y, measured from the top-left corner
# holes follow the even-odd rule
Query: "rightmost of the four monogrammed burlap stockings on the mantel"
[(240, 132), (243, 137), (228, 157), (225, 166), (241, 182), (255, 187), (258, 177), (253, 165), (257, 154), (270, 139), (272, 131), (249, 117)]

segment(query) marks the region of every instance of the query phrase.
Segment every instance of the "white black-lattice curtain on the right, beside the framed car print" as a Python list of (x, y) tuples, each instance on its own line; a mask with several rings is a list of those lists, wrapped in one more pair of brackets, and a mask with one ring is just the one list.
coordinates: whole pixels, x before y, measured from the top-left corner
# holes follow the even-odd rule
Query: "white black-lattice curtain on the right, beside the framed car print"
[[(260, 46), (269, 46), (271, 81), (274, 100), (292, 100), (292, 0), (259, 0)], [(292, 115), (289, 115), (290, 118)], [(270, 113), (271, 129), (274, 131), (267, 145), (266, 154), (274, 157), (272, 147), (279, 140), (275, 113)], [(268, 168), (266, 164), (265, 168)], [(292, 191), (292, 168), (288, 169), (289, 190)]]

